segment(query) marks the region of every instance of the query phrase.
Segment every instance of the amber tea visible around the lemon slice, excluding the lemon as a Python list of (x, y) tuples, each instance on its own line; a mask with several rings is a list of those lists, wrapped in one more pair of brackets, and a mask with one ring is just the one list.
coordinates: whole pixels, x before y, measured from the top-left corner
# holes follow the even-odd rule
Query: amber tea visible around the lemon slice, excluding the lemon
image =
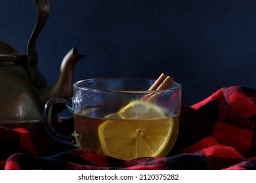
[[(111, 110), (113, 111), (113, 110)], [(116, 121), (125, 121), (123, 119), (106, 119), (104, 116), (107, 116), (108, 114), (112, 113), (110, 110), (100, 110), (97, 108), (87, 108), (86, 110), (83, 110), (80, 112), (81, 114), (74, 114), (74, 122), (75, 122), (75, 133), (76, 133), (76, 141), (77, 146), (79, 148), (90, 148), (97, 152), (98, 154), (102, 154), (101, 148), (100, 148), (100, 140), (98, 137), (98, 127), (100, 124), (105, 122), (106, 120), (116, 120)], [(173, 118), (171, 121), (173, 121), (173, 125), (171, 127), (173, 128), (170, 140), (168, 142), (167, 147), (165, 148), (165, 152), (161, 154), (162, 156), (166, 156), (171, 149), (173, 148), (179, 131), (179, 115), (169, 117), (170, 119)], [(159, 119), (158, 119), (159, 120)], [(158, 120), (150, 120), (151, 122), (158, 122)], [(131, 120), (129, 120), (131, 121)], [(137, 122), (140, 122), (140, 120), (136, 120)]]

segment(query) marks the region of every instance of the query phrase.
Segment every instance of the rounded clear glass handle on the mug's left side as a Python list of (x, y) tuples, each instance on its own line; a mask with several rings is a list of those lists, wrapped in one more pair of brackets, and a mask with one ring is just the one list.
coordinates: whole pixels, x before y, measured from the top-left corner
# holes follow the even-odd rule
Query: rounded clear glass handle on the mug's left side
[(75, 140), (75, 132), (70, 135), (62, 135), (58, 133), (53, 127), (52, 124), (52, 109), (56, 103), (64, 103), (66, 107), (72, 111), (72, 98), (67, 97), (65, 95), (54, 95), (45, 103), (45, 110), (43, 112), (44, 124), (47, 133), (57, 142), (61, 142), (64, 144), (76, 145), (77, 142)]

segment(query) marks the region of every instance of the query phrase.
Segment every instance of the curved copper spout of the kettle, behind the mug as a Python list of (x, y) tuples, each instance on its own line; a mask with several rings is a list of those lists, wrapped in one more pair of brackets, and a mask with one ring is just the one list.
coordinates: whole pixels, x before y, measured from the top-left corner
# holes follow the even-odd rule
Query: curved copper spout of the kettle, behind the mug
[(66, 54), (60, 65), (60, 74), (56, 83), (39, 91), (39, 101), (42, 105), (47, 99), (56, 94), (72, 97), (75, 65), (79, 59), (84, 57), (85, 55), (77, 53), (77, 48), (75, 47)]

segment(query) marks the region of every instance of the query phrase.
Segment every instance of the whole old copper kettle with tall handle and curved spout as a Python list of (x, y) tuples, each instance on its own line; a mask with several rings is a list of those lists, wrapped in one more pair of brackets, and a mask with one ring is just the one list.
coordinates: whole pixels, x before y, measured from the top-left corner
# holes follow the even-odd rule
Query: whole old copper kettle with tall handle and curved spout
[(0, 125), (43, 121), (43, 105), (54, 94), (72, 96), (74, 68), (85, 55), (72, 48), (60, 66), (58, 80), (53, 86), (37, 68), (36, 39), (49, 16), (49, 1), (34, 0), (37, 7), (37, 22), (28, 41), (27, 54), (16, 51), (0, 41)]

